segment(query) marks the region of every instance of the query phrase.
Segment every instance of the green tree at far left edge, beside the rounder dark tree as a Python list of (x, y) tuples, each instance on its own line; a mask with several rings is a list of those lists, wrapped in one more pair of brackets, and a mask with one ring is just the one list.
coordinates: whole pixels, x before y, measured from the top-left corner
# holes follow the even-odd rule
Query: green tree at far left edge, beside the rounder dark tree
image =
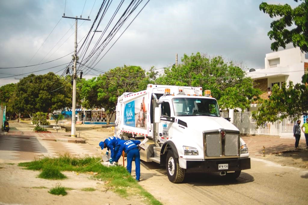
[(15, 116), (13, 102), (15, 97), (16, 84), (10, 83), (0, 87), (0, 104), (6, 106), (6, 116)]

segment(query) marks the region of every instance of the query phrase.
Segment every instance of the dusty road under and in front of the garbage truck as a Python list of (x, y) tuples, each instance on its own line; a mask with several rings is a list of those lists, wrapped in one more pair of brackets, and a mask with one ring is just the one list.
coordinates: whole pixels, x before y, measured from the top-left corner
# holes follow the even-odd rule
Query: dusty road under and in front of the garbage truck
[(146, 163), (140, 185), (164, 204), (307, 204), (308, 171), (253, 158), (252, 169), (234, 181), (214, 174), (190, 174), (168, 181), (165, 170)]

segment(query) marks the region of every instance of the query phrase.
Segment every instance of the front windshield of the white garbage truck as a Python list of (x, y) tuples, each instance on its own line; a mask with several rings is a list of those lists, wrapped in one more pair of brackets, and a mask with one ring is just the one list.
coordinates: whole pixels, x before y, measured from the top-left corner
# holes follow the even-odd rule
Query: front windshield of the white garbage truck
[(217, 116), (220, 117), (217, 101), (206, 98), (174, 98), (172, 99), (176, 116)]

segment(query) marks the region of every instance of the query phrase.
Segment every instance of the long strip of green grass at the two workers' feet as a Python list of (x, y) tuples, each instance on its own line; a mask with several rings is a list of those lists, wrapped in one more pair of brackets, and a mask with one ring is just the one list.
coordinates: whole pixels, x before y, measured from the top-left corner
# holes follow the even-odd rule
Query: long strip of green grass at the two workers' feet
[[(29, 170), (42, 170), (42, 173), (50, 167), (55, 167), (59, 173), (61, 173), (60, 171), (75, 171), (78, 173), (97, 172), (97, 175), (93, 175), (92, 178), (105, 181), (107, 189), (118, 193), (120, 196), (128, 197), (129, 195), (140, 195), (145, 198), (144, 200), (148, 204), (161, 204), (150, 193), (145, 191), (124, 167), (105, 167), (99, 163), (100, 159), (100, 157), (77, 158), (72, 157), (69, 154), (64, 154), (59, 155), (57, 158), (37, 158), (32, 162), (19, 163), (18, 166), (26, 167), (26, 169)], [(91, 188), (82, 191), (95, 190), (90, 189)]]

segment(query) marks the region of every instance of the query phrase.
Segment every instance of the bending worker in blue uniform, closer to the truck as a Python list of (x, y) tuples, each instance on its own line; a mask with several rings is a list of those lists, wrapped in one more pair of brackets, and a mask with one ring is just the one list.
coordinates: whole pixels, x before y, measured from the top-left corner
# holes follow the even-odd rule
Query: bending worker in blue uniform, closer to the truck
[(115, 155), (115, 162), (117, 163), (121, 157), (121, 153), (124, 152), (127, 154), (127, 171), (131, 174), (132, 172), (132, 161), (135, 157), (135, 165), (136, 165), (136, 180), (140, 182), (140, 153), (137, 145), (140, 144), (139, 140), (128, 140), (128, 141), (120, 141), (120, 148)]

